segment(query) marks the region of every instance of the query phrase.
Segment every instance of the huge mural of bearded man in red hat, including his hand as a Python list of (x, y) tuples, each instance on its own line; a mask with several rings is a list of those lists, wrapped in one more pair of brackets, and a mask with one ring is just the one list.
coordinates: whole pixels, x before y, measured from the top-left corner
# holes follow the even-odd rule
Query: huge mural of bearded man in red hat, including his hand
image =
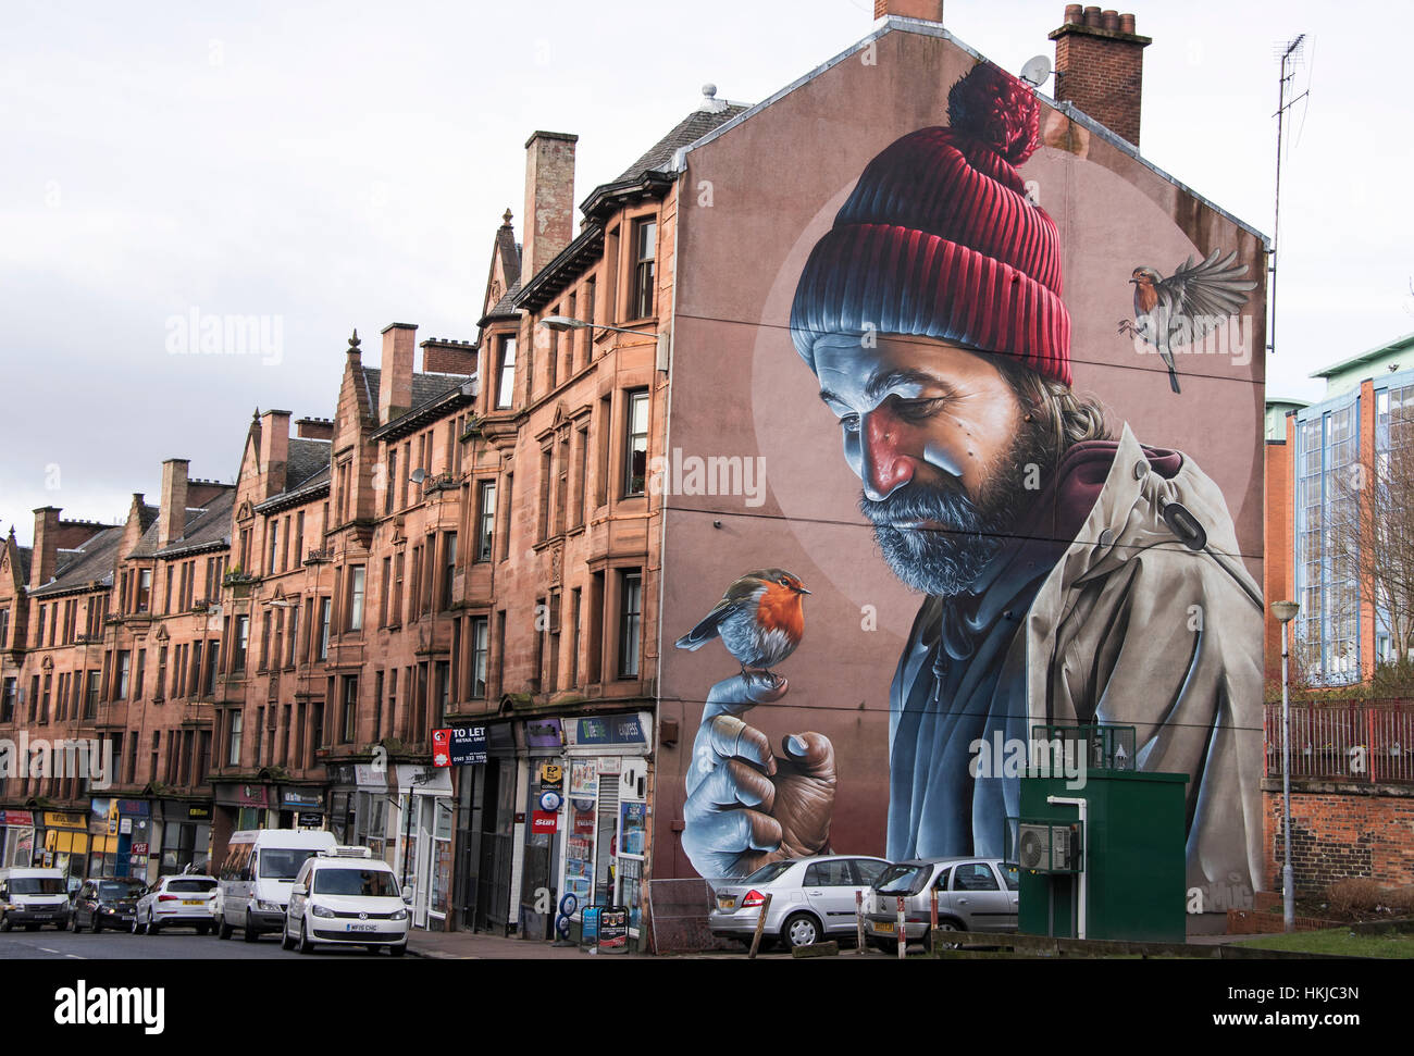
[[(1017, 172), (1038, 116), (1025, 85), (978, 64), (949, 95), (947, 127), (909, 133), (865, 167), (790, 314), (878, 547), (925, 595), (891, 688), (887, 857), (1001, 857), (1019, 779), (974, 778), (974, 742), (1103, 722), (1135, 727), (1138, 769), (1191, 775), (1189, 886), (1256, 889), (1261, 594), (1217, 486), (1070, 389), (1059, 232)], [(700, 737), (694, 759), (715, 780), (690, 778), (694, 867), (721, 876), (724, 864), (827, 850), (829, 742), (796, 738), (800, 758), (782, 761), (792, 785), (755, 789), (762, 779), (720, 745), (765, 742), (740, 720), (759, 701), (724, 696), (728, 683), (703, 728), (730, 722), (731, 738)], [(772, 824), (721, 824), (694, 803), (704, 794)]]

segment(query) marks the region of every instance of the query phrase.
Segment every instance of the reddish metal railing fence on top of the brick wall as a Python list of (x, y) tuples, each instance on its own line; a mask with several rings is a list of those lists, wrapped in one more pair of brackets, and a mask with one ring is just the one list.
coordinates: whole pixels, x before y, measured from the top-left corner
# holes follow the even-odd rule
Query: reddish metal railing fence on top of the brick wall
[[(1263, 722), (1267, 776), (1281, 776), (1281, 704)], [(1414, 704), (1291, 705), (1291, 776), (1414, 785)]]

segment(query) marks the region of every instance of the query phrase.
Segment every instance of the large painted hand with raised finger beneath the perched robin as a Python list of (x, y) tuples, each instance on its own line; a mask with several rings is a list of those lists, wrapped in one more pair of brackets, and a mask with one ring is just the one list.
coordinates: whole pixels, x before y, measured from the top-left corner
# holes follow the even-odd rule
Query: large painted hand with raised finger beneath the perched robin
[(820, 854), (834, 811), (834, 746), (792, 734), (782, 756), (741, 715), (790, 688), (741, 676), (713, 686), (687, 769), (683, 850), (708, 879), (740, 879), (766, 862)]

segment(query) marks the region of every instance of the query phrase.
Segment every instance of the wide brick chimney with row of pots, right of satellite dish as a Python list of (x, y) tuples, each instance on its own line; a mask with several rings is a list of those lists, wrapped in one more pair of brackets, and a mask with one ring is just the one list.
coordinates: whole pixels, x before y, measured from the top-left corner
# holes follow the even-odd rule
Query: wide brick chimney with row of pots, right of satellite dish
[(1056, 42), (1056, 100), (1076, 107), (1110, 131), (1140, 146), (1144, 48), (1134, 16), (1066, 4)]

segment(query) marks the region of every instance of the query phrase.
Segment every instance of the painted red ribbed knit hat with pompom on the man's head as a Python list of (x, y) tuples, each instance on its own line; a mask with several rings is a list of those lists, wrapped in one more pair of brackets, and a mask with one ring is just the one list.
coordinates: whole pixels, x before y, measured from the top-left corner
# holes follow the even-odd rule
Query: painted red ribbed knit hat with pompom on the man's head
[(1060, 236), (1015, 168), (1039, 116), (1027, 85), (980, 62), (947, 95), (949, 127), (870, 161), (796, 287), (790, 336), (812, 370), (816, 341), (872, 328), (1008, 355), (1070, 385)]

